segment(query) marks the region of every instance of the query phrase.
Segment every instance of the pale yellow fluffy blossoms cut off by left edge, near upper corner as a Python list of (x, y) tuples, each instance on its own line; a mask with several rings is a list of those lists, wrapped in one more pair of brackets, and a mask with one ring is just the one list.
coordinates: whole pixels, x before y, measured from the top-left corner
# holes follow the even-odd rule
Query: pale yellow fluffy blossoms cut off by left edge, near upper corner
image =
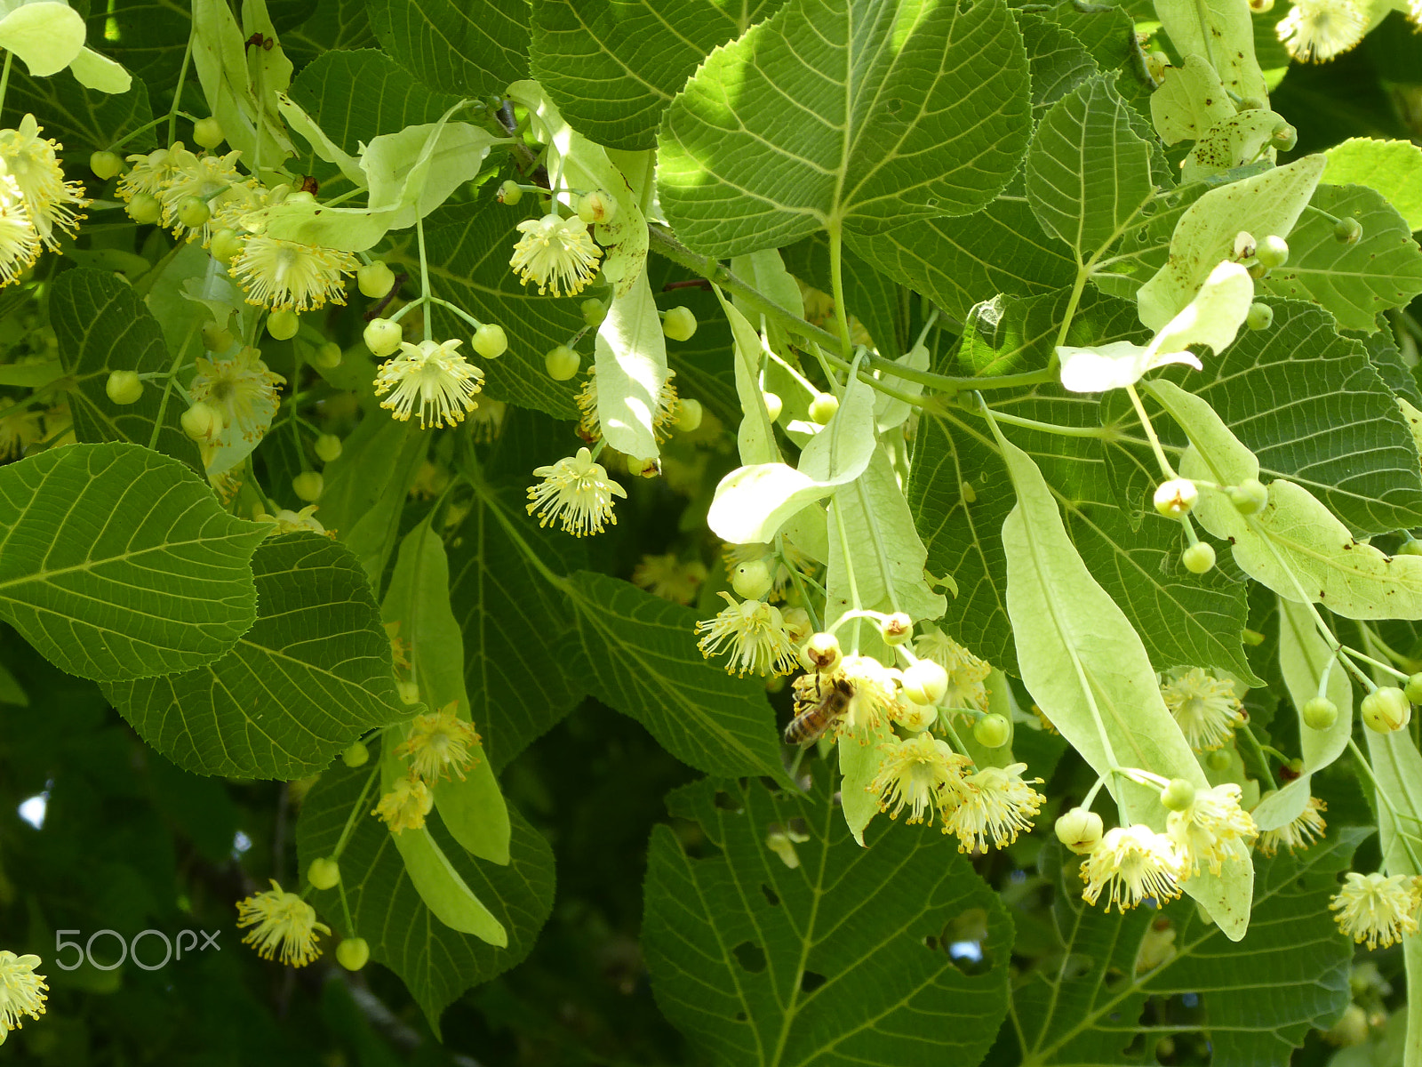
[(88, 206), (84, 186), (64, 181), (63, 145), (40, 134), (34, 115), (0, 129), (0, 285), (17, 280), (43, 248), (57, 250), (58, 235), (73, 236)]

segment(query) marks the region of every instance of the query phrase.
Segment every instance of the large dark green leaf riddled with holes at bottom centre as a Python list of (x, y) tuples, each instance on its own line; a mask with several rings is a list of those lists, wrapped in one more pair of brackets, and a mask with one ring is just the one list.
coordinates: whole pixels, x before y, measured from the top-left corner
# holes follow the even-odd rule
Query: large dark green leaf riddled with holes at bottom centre
[[(859, 848), (830, 792), (698, 781), (671, 794), (720, 851), (694, 859), (653, 831), (643, 945), (658, 1004), (715, 1064), (977, 1063), (1007, 1006), (997, 893), (921, 827)], [(809, 839), (788, 866), (766, 837), (792, 825)], [(983, 953), (967, 973), (950, 956), (961, 940)]]

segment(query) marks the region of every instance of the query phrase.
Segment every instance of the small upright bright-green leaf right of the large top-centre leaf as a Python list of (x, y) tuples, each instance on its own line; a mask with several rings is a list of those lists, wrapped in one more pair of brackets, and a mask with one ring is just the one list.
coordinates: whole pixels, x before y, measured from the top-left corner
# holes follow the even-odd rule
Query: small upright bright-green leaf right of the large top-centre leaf
[(1150, 145), (1130, 127), (1115, 75), (1096, 75), (1042, 117), (1027, 151), (1027, 199), (1042, 229), (1091, 259), (1155, 196)]

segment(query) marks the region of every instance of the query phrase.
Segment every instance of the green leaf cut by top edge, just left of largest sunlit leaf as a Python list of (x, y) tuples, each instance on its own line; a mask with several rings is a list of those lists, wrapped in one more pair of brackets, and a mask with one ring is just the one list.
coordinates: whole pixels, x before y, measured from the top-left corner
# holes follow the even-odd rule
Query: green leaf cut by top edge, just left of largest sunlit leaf
[(712, 48), (779, 0), (538, 0), (533, 77), (569, 124), (609, 148), (656, 148), (657, 127)]

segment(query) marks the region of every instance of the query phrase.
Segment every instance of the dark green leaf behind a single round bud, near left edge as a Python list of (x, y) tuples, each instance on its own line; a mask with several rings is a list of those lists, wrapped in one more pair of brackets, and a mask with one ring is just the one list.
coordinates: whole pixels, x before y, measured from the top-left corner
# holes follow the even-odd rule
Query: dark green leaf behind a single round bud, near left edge
[(115, 404), (105, 391), (109, 371), (155, 374), (172, 367), (162, 329), (132, 286), (102, 270), (65, 270), (50, 294), (50, 323), (64, 370), (74, 376), (70, 411), (80, 441), (146, 447), (162, 420), (158, 451), (202, 471), (198, 445), (182, 431), (185, 404), (176, 393), (165, 401), (162, 381), (148, 381), (135, 403)]

